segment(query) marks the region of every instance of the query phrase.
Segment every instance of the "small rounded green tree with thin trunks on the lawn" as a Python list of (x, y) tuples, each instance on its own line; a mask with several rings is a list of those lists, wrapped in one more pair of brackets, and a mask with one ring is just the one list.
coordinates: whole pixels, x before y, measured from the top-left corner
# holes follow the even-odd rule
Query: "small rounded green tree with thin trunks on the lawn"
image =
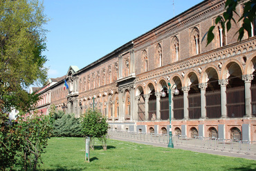
[(107, 150), (107, 129), (108, 123), (105, 117), (97, 110), (87, 110), (81, 118), (82, 133), (84, 137), (90, 137), (90, 147), (94, 150), (94, 139), (99, 138), (102, 148)]

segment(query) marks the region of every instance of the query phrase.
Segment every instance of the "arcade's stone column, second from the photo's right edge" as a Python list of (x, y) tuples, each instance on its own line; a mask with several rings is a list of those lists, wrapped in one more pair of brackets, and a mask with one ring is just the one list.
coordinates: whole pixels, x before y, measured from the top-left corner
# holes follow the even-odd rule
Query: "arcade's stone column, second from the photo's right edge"
[(227, 94), (226, 86), (228, 85), (228, 79), (220, 79), (219, 85), (221, 86), (221, 118), (227, 117)]

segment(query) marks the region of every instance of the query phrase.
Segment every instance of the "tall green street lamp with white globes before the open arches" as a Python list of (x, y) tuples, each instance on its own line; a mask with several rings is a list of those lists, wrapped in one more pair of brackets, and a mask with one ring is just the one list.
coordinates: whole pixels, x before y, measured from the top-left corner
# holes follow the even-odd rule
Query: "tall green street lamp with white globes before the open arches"
[[(172, 90), (172, 88), (173, 88), (174, 85), (176, 86), (176, 84), (172, 85), (172, 88), (171, 88), (171, 84), (170, 84), (170, 83), (167, 83), (167, 84), (168, 84), (169, 119), (170, 119), (170, 129), (169, 129), (169, 143), (168, 143), (168, 148), (174, 148), (174, 144), (172, 143), (172, 123), (171, 123), (171, 121), (172, 121), (172, 116), (171, 116), (171, 111), (172, 111), (172, 105), (171, 105), (171, 103), (172, 103), (172, 92), (171, 92), (171, 90)], [(163, 86), (163, 88), (167, 88), (167, 87), (166, 87), (166, 86)], [(175, 95), (178, 95), (178, 94), (179, 94), (179, 90), (177, 89), (177, 86), (176, 86), (176, 88), (175, 88), (175, 90), (174, 90), (174, 94), (175, 94)], [(165, 96), (166, 96), (165, 91), (162, 91), (162, 92), (161, 92), (161, 97), (165, 97)]]

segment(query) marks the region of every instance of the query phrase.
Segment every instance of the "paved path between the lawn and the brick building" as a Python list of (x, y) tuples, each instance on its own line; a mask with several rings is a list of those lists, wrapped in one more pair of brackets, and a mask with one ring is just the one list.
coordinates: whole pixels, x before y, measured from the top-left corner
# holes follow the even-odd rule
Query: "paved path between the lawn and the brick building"
[[(110, 139), (116, 139), (116, 140), (120, 140), (120, 141), (129, 141), (129, 142), (133, 142), (133, 143), (143, 143), (146, 145), (154, 145), (154, 146), (158, 146), (158, 147), (163, 147), (163, 148), (167, 148), (167, 145), (165, 143), (152, 143), (152, 142), (147, 142), (147, 141), (140, 141), (140, 140), (136, 140), (136, 139), (125, 139), (123, 137), (109, 137)], [(227, 156), (227, 157), (240, 157), (240, 158), (244, 158), (244, 159), (250, 159), (250, 160), (255, 160), (256, 161), (256, 155), (255, 154), (240, 154), (240, 153), (236, 153), (236, 152), (224, 152), (221, 150), (208, 150), (206, 148), (194, 148), (194, 147), (189, 147), (188, 145), (175, 145), (174, 144), (174, 148), (176, 149), (182, 149), (182, 150), (190, 150), (193, 152), (202, 152), (202, 153), (208, 153), (208, 154), (217, 154), (217, 155), (222, 155), (222, 156)]]

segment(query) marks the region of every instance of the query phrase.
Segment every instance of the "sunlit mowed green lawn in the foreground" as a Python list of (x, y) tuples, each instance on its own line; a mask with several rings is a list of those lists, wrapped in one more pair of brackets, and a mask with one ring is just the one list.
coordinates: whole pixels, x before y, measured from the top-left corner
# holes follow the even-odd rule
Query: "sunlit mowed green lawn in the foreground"
[(49, 139), (39, 170), (256, 170), (256, 161), (108, 139), (108, 150), (95, 141), (90, 163), (84, 138)]

